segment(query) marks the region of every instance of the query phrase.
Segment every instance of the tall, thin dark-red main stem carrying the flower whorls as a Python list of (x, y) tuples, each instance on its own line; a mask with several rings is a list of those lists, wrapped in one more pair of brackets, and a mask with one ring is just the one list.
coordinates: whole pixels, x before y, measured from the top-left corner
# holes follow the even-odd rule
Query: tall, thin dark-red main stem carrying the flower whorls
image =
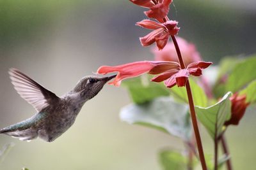
[[(173, 41), (173, 44), (175, 46), (175, 49), (176, 49), (176, 52), (177, 52), (177, 55), (178, 55), (178, 58), (179, 58), (180, 67), (182, 69), (185, 69), (185, 64), (184, 64), (184, 61), (182, 59), (182, 56), (181, 56), (181, 53), (180, 53), (180, 48), (179, 48), (179, 45), (177, 43), (177, 40), (176, 40), (175, 36), (171, 36), (171, 37), (172, 37), (172, 41)], [(192, 120), (192, 124), (193, 124), (193, 129), (194, 129), (194, 132), (195, 132), (196, 145), (197, 145), (197, 148), (198, 148), (200, 162), (201, 162), (201, 165), (202, 165), (202, 169), (207, 170), (207, 166), (206, 166), (205, 158), (204, 158), (204, 149), (203, 149), (203, 146), (202, 146), (200, 132), (199, 132), (198, 124), (197, 124), (197, 120), (196, 120), (195, 106), (194, 106), (194, 102), (193, 102), (193, 96), (192, 96), (189, 80), (186, 82), (186, 90), (187, 90), (187, 94), (188, 94), (188, 102), (189, 102), (189, 108), (190, 108), (190, 113), (191, 113), (191, 120)]]

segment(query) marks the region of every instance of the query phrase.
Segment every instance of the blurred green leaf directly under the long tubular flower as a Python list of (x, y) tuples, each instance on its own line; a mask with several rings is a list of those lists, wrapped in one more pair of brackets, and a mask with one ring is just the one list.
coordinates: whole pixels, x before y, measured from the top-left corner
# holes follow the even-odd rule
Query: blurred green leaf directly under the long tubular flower
[(127, 87), (132, 101), (137, 104), (146, 103), (156, 97), (170, 95), (170, 90), (163, 83), (150, 81), (150, 76), (147, 74), (126, 80), (122, 84)]

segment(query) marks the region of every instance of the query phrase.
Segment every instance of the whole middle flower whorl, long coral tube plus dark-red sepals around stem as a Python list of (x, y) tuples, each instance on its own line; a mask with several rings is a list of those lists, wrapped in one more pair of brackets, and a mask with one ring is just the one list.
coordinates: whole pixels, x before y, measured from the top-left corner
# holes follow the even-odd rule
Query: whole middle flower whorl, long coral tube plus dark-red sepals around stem
[(143, 73), (159, 74), (152, 78), (151, 81), (164, 81), (166, 87), (171, 88), (176, 84), (178, 87), (185, 86), (190, 74), (193, 76), (200, 76), (202, 74), (202, 69), (209, 67), (211, 64), (212, 62), (199, 61), (189, 64), (186, 69), (181, 69), (177, 62), (139, 61), (113, 67), (101, 66), (97, 73), (108, 74), (111, 72), (118, 72), (116, 78), (109, 83), (116, 86), (119, 86), (121, 81), (125, 78), (140, 76)]

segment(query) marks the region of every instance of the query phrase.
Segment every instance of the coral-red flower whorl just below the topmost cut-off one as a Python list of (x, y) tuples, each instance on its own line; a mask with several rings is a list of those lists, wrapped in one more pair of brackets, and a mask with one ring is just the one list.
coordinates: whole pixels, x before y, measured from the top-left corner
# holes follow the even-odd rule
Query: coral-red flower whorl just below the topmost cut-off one
[(162, 50), (168, 42), (169, 37), (178, 33), (179, 27), (177, 27), (177, 24), (178, 22), (175, 20), (168, 20), (163, 24), (152, 20), (142, 20), (141, 22), (137, 22), (136, 25), (154, 30), (143, 38), (140, 38), (141, 45), (148, 46), (156, 42), (159, 50)]

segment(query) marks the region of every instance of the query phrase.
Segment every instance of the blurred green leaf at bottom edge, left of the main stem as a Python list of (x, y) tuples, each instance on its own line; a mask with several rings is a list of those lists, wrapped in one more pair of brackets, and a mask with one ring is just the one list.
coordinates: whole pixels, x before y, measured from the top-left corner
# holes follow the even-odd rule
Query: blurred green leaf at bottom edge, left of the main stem
[(164, 170), (186, 170), (187, 159), (178, 152), (164, 150), (159, 153), (159, 159)]

